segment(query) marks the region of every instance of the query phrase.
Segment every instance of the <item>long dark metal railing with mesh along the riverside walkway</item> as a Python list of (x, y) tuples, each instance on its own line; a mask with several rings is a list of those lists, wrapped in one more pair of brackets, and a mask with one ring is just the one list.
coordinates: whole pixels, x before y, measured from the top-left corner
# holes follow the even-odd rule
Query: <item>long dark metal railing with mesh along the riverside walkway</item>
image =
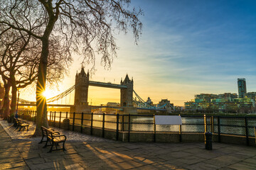
[[(21, 118), (36, 120), (36, 111), (20, 111)], [(208, 115), (181, 115), (182, 125), (156, 125), (154, 115), (119, 115), (105, 113), (68, 113), (48, 112), (48, 121), (51, 126), (61, 128), (64, 119), (70, 120), (69, 129), (83, 132), (85, 128), (102, 130), (102, 137), (105, 137), (105, 130), (116, 132), (116, 139), (119, 139), (119, 132), (128, 133), (153, 133), (154, 141), (157, 133), (184, 133), (203, 134), (213, 132), (218, 135), (218, 142), (221, 135), (233, 135), (245, 137), (247, 145), (249, 138), (255, 137), (256, 117), (247, 116), (208, 116)]]

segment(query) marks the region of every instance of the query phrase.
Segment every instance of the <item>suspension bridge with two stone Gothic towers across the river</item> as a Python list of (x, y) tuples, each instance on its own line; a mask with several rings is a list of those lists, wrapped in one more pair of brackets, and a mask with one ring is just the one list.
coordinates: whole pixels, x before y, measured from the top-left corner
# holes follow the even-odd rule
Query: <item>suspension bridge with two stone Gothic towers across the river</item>
[[(82, 68), (80, 73), (75, 75), (75, 85), (70, 87), (70, 89), (63, 91), (63, 93), (58, 94), (52, 98), (47, 99), (48, 106), (57, 107), (70, 107), (70, 112), (84, 112), (90, 113), (92, 109), (95, 108), (112, 108), (111, 106), (90, 106), (88, 104), (88, 90), (89, 86), (99, 86), (111, 89), (120, 89), (120, 106), (114, 107), (125, 114), (137, 114), (137, 110), (154, 110), (154, 111), (166, 111), (170, 109), (174, 111), (173, 106), (165, 104), (164, 106), (151, 106), (146, 103), (135, 91), (134, 91), (134, 81), (129, 79), (128, 74), (124, 80), (120, 81), (120, 84), (105, 83), (100, 81), (90, 81), (89, 72), (85, 73)], [(70, 95), (72, 91), (75, 91), (74, 103), (65, 104), (54, 104), (55, 101), (60, 101), (62, 98)], [(133, 94), (135, 97), (133, 97)], [(23, 99), (19, 100), (19, 106), (36, 106), (34, 101), (26, 101)]]

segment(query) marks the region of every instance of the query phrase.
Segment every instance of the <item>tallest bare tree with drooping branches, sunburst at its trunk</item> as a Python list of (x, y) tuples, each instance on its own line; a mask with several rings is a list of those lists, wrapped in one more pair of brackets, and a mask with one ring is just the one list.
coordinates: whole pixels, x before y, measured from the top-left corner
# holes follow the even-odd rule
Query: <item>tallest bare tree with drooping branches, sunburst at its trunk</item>
[[(132, 28), (135, 42), (139, 39), (142, 10), (130, 8), (129, 0), (0, 0), (0, 27), (15, 29), (41, 40), (41, 60), (36, 85), (37, 127), (46, 125), (46, 70), (50, 37), (55, 37), (66, 55), (77, 52), (84, 62), (95, 62), (95, 52), (102, 64), (110, 67), (117, 45), (113, 30), (127, 33)], [(31, 29), (33, 27), (33, 29)]]

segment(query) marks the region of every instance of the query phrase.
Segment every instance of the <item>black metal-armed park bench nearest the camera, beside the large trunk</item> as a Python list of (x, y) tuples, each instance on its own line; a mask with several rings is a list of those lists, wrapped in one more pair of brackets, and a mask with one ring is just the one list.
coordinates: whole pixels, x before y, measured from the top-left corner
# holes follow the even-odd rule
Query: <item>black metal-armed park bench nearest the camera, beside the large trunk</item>
[[(59, 132), (56, 132), (52, 129), (45, 128), (43, 126), (41, 128), (43, 130), (42, 132), (45, 132), (45, 135), (46, 135), (46, 138), (47, 138), (46, 139), (46, 145), (44, 147), (51, 146), (49, 152), (53, 151), (53, 145), (55, 146), (54, 150), (60, 150), (61, 148), (60, 149), (57, 148), (59, 143), (63, 143), (62, 150), (63, 151), (65, 150), (64, 145), (65, 145), (65, 141), (67, 140), (67, 137), (65, 135), (60, 135)], [(48, 145), (48, 142), (50, 142), (50, 145)]]

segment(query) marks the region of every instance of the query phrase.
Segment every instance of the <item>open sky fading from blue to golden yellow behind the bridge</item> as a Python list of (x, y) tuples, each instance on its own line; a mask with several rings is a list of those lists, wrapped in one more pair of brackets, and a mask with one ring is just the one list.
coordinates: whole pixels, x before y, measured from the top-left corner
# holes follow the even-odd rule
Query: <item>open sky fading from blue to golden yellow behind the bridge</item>
[[(247, 92), (256, 91), (256, 1), (134, 0), (131, 6), (144, 11), (138, 45), (132, 33), (116, 35), (119, 50), (111, 69), (97, 56), (91, 80), (119, 84), (128, 74), (144, 101), (168, 98), (174, 106), (195, 94), (238, 93), (238, 78), (246, 79)], [(73, 58), (52, 96), (75, 84), (81, 58)], [(118, 89), (89, 87), (93, 105), (119, 100)]]

